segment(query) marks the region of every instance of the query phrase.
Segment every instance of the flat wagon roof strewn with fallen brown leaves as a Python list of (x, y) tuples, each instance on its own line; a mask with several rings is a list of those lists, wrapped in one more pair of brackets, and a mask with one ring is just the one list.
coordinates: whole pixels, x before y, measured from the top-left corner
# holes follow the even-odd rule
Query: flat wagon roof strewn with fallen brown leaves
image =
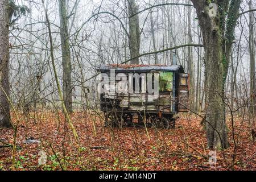
[(103, 64), (97, 68), (97, 71), (105, 72), (110, 69), (115, 69), (116, 71), (171, 71), (184, 73), (184, 69), (181, 65), (163, 65), (163, 64)]

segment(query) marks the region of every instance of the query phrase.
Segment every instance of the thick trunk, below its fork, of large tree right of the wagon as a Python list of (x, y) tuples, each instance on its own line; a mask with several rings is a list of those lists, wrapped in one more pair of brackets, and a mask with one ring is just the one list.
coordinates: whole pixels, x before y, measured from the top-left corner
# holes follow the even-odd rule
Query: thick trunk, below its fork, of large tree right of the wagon
[[(220, 36), (212, 30), (203, 31), (205, 48), (205, 94), (207, 139), (209, 148), (228, 148), (225, 105), (222, 102), (224, 67)], [(223, 98), (224, 99), (224, 98)]]

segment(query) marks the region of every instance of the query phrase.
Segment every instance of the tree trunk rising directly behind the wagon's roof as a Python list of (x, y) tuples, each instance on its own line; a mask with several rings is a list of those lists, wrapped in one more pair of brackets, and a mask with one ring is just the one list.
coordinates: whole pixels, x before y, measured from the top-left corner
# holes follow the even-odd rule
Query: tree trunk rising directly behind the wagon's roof
[[(131, 58), (139, 56), (141, 47), (141, 32), (139, 30), (138, 6), (135, 0), (127, 0), (129, 11), (129, 47)], [(136, 15), (135, 15), (136, 14)], [(131, 60), (131, 64), (139, 64), (139, 58)]]

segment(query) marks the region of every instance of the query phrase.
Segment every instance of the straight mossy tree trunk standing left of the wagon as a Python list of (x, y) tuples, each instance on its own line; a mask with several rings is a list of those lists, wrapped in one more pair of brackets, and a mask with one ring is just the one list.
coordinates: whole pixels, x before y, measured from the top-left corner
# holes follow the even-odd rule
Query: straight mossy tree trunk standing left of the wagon
[(69, 46), (68, 15), (66, 0), (59, 0), (60, 11), (60, 37), (63, 66), (63, 99), (65, 107), (72, 113), (72, 67)]

